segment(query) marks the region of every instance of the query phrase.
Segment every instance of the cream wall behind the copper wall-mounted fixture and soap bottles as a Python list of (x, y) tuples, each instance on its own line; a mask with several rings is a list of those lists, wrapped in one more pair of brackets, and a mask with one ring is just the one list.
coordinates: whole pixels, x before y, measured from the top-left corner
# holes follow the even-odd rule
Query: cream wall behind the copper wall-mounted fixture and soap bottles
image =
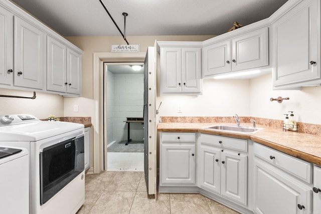
[[(302, 87), (301, 90), (272, 90), (272, 75), (250, 81), (250, 116), (283, 120), (288, 111), (294, 111), (299, 122), (321, 124), (321, 87)], [(282, 103), (270, 98), (289, 97)]]

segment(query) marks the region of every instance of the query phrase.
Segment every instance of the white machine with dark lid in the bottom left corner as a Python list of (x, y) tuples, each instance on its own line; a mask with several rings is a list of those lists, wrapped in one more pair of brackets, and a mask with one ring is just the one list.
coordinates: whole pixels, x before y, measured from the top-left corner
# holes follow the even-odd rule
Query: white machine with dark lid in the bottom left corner
[(29, 154), (0, 146), (0, 213), (29, 213)]

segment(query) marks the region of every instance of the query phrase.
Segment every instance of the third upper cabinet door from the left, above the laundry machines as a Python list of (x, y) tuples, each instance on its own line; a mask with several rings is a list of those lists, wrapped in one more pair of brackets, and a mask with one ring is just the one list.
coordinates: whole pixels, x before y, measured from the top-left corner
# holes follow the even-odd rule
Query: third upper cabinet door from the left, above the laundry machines
[(67, 48), (59, 41), (47, 37), (47, 90), (66, 92)]

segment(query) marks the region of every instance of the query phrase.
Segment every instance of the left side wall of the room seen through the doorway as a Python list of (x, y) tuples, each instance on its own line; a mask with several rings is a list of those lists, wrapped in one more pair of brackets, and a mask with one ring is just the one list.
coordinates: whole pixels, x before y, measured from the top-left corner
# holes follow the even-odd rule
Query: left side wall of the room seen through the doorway
[(114, 141), (114, 74), (107, 71), (107, 144)]

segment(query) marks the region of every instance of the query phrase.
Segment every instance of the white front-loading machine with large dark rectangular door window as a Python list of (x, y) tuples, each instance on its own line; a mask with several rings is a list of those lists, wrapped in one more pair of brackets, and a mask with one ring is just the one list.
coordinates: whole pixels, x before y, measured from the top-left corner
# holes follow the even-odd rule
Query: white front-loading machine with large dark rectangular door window
[(30, 214), (73, 214), (84, 203), (83, 124), (0, 115), (0, 147), (29, 152)]

